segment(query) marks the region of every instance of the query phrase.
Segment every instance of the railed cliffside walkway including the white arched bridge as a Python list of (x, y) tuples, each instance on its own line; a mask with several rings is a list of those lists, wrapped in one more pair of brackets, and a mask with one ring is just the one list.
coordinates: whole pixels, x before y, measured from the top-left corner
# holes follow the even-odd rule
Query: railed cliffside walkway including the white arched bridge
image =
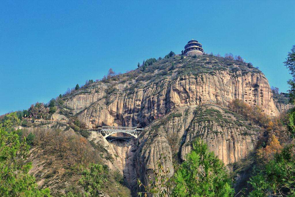
[[(172, 110), (170, 110), (169, 112), (165, 113), (165, 115), (163, 115), (160, 118), (157, 118), (155, 120), (153, 120), (152, 122), (150, 122), (150, 124), (148, 124), (147, 126), (145, 126), (144, 128), (142, 127), (124, 127), (124, 126), (98, 126), (97, 128), (91, 128), (91, 129), (87, 129), (87, 131), (95, 131), (97, 133), (100, 133), (105, 139), (107, 139), (109, 142), (115, 140), (115, 139), (121, 139), (121, 140), (125, 140), (125, 141), (130, 141), (130, 138), (125, 138), (125, 137), (117, 137), (117, 136), (112, 136), (112, 134), (114, 133), (127, 133), (135, 138), (138, 138), (138, 136), (140, 135), (140, 133), (142, 132), (143, 129), (145, 128), (149, 128), (153, 123), (156, 123), (158, 121), (160, 121), (163, 118), (167, 118), (168, 115), (170, 115), (171, 113), (173, 113), (174, 111), (181, 109), (181, 108), (187, 108), (187, 107), (201, 107), (201, 106), (209, 106), (209, 107), (216, 107), (222, 110), (227, 110), (227, 111), (233, 111), (230, 108), (224, 108), (220, 105), (216, 105), (214, 103), (204, 103), (204, 104), (200, 104), (200, 105), (189, 105), (189, 104), (180, 104), (177, 107), (173, 108)], [(70, 124), (68, 121), (39, 121), (39, 120), (29, 120), (28, 121), (32, 121), (33, 123), (64, 123), (64, 124)], [(73, 124), (73, 123), (71, 123)]]

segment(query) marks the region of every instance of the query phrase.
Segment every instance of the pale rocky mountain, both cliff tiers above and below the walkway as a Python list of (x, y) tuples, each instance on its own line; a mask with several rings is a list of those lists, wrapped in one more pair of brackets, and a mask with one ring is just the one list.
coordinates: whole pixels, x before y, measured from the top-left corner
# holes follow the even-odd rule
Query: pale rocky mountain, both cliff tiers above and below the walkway
[[(176, 55), (158, 60), (145, 70), (140, 67), (125, 74), (108, 75), (68, 92), (58, 99), (58, 110), (52, 117), (55, 120), (77, 117), (90, 129), (145, 127), (176, 109), (145, 127), (138, 139), (133, 138), (129, 143), (110, 143), (95, 131), (86, 135), (94, 147), (101, 147), (94, 148), (96, 152), (104, 150), (103, 162), (124, 176), (126, 186), (135, 196), (140, 191), (137, 180), (147, 184), (153, 178), (158, 160), (170, 169), (172, 176), (173, 165), (185, 159), (196, 138), (204, 140), (229, 171), (234, 170), (233, 164), (255, 149), (263, 131), (258, 124), (235, 112), (197, 106), (215, 103), (227, 107), (234, 99), (258, 106), (270, 116), (289, 108), (274, 100), (268, 80), (252, 64), (209, 55), (184, 58)], [(53, 127), (56, 127), (54, 123), (48, 125)], [(62, 130), (74, 132), (69, 126)], [(58, 187), (53, 188), (63, 193)]]

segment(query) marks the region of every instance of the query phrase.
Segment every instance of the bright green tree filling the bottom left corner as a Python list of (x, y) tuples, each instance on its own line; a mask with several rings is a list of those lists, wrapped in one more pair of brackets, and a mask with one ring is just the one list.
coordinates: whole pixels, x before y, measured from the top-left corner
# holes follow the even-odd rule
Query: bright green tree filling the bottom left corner
[(31, 163), (20, 164), (28, 152), (26, 138), (19, 141), (16, 133), (0, 128), (0, 196), (50, 196), (50, 190), (39, 190), (35, 178), (28, 174)]

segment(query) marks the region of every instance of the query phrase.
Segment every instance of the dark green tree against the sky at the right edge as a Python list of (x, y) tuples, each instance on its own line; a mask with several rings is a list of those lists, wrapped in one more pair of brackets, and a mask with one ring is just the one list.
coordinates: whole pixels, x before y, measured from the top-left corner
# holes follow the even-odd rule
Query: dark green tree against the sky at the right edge
[(290, 74), (293, 79), (288, 80), (289, 84), (289, 100), (291, 103), (295, 104), (295, 45), (291, 48), (291, 52), (288, 52), (286, 61), (283, 62), (285, 66), (290, 70)]

